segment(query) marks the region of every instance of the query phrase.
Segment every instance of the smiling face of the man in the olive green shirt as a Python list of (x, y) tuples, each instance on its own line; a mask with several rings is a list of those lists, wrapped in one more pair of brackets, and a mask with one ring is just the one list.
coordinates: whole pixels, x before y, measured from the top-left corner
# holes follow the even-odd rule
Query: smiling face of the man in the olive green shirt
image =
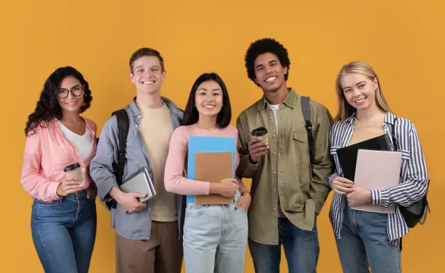
[(266, 92), (277, 92), (286, 86), (284, 75), (287, 67), (282, 67), (280, 60), (273, 53), (259, 55), (254, 61), (255, 80)]

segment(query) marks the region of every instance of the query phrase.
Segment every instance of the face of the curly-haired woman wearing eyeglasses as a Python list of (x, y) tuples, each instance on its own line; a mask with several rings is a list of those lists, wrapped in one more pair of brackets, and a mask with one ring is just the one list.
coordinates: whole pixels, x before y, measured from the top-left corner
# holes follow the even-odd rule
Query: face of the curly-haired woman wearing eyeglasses
[(62, 113), (78, 113), (79, 108), (83, 104), (83, 94), (84, 90), (81, 81), (74, 76), (63, 78), (60, 88), (57, 90), (57, 100), (62, 108)]

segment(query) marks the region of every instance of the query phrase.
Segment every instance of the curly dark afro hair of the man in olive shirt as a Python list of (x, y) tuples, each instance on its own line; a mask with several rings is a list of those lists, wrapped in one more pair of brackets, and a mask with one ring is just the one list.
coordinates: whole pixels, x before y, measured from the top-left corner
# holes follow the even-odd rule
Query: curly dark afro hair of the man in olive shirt
[[(264, 53), (273, 53), (277, 56), (278, 60), (282, 67), (287, 67), (287, 73), (284, 75), (284, 80), (287, 81), (289, 77), (289, 69), (291, 69), (291, 60), (289, 60), (289, 53), (287, 53), (287, 49), (272, 38), (263, 38), (260, 40), (256, 40), (250, 44), (248, 51), (245, 53), (245, 69), (248, 71), (248, 77), (250, 80), (255, 82), (255, 67), (254, 62), (257, 60), (257, 57)], [(259, 84), (257, 83), (259, 86)]]

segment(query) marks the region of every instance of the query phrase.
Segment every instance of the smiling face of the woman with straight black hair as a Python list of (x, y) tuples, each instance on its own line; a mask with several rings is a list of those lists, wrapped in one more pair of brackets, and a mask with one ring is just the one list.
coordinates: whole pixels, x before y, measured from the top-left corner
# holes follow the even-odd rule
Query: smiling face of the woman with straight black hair
[(216, 81), (204, 81), (195, 92), (195, 106), (201, 116), (216, 117), (223, 108), (223, 90)]

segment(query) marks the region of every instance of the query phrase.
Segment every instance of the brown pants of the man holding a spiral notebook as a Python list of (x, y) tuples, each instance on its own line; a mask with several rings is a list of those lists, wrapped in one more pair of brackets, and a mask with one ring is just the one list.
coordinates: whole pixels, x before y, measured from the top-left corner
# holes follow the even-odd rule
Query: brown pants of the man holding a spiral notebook
[(177, 222), (154, 222), (149, 240), (116, 234), (116, 273), (180, 273), (183, 250)]

